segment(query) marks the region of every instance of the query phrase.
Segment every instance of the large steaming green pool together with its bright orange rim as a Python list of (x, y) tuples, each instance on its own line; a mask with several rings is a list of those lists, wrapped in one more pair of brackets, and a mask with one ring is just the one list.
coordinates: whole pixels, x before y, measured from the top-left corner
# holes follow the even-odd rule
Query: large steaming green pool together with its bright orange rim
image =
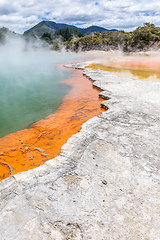
[[(61, 65), (80, 61), (83, 56), (36, 53), (37, 61), (31, 56), (27, 53), (27, 64), (22, 62), (21, 67), (21, 62), (13, 68), (11, 64), (2, 84), (5, 93), (1, 99), (8, 107), (3, 108), (6, 121), (1, 117), (6, 126), (3, 134), (8, 134), (9, 126), (13, 133), (0, 138), (0, 180), (54, 158), (85, 121), (102, 112), (102, 99), (82, 70)], [(9, 100), (4, 101), (5, 97)]]

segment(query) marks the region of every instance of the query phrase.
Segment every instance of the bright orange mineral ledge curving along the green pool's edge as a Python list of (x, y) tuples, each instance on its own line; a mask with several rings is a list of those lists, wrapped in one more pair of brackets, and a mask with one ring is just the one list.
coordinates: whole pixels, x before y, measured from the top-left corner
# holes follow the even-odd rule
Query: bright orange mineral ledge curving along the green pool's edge
[(57, 156), (61, 146), (85, 121), (103, 111), (99, 91), (92, 88), (82, 70), (74, 71), (72, 78), (62, 84), (69, 84), (72, 89), (54, 114), (29, 129), (0, 139), (0, 180)]

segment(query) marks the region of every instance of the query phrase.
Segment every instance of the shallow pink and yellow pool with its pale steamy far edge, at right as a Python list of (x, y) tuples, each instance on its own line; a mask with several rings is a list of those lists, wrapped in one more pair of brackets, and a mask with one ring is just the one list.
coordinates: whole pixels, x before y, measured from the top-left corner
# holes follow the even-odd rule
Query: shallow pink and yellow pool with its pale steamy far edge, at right
[(117, 53), (117, 56), (109, 53), (106, 58), (99, 59), (87, 68), (112, 72), (119, 77), (128, 77), (132, 80), (160, 81), (159, 55), (152, 52), (148, 55)]

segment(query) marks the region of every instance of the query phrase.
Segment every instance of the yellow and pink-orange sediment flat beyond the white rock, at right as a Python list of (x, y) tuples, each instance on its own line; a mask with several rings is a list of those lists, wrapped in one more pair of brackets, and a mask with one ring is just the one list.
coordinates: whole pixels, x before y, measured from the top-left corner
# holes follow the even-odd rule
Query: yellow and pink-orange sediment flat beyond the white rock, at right
[(159, 81), (160, 61), (134, 59), (128, 61), (115, 61), (109, 63), (93, 63), (87, 68), (100, 69), (108, 72), (115, 72), (119, 76), (134, 77), (135, 79), (149, 79)]

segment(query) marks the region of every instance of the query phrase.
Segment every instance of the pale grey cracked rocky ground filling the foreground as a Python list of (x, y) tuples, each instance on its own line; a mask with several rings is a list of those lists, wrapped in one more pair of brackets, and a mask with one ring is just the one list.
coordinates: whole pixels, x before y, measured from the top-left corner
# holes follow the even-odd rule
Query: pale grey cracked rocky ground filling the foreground
[(1, 240), (160, 239), (160, 82), (84, 74), (108, 110), (56, 158), (0, 182)]

